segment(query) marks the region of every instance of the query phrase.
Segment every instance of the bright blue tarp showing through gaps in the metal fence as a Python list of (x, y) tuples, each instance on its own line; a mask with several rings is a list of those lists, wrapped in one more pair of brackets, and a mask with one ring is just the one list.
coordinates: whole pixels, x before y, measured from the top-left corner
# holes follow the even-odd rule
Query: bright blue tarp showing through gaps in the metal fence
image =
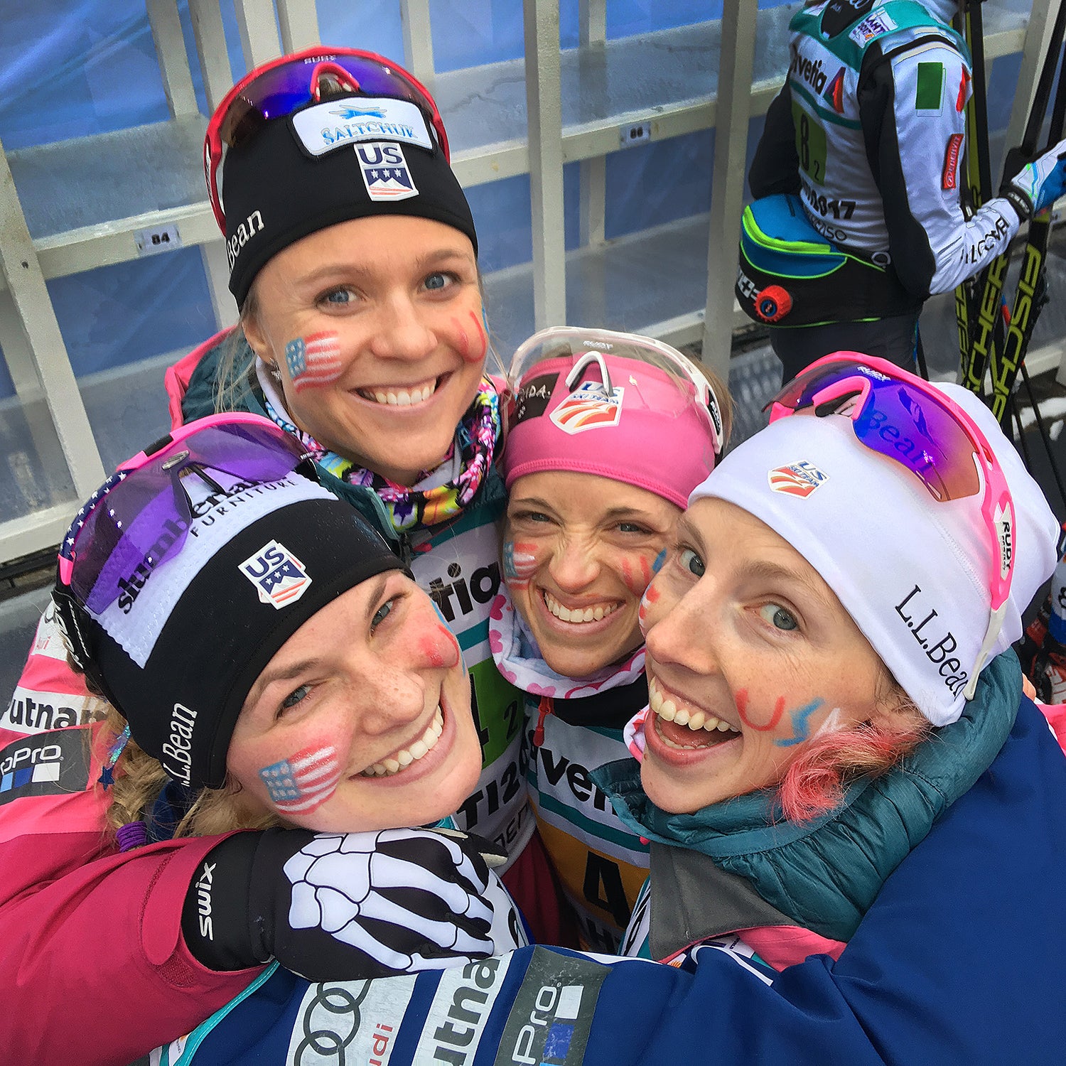
[[(763, 3), (762, 6), (773, 5)], [(434, 62), (440, 71), (519, 58), (518, 0), (431, 0)], [(398, 0), (319, 0), (324, 41), (403, 59)], [(185, 46), (195, 56), (189, 12), (179, 4)], [(232, 4), (223, 20), (235, 77), (244, 72)], [(628, 36), (722, 13), (721, 0), (611, 0), (608, 35)], [(561, 42), (578, 44), (578, 2), (561, 2)], [(997, 61), (989, 125), (1006, 125), (1020, 56)], [(193, 77), (207, 113), (198, 71)], [(0, 0), (0, 141), (6, 150), (160, 122), (167, 117), (143, 0)], [(448, 116), (445, 115), (447, 123)], [(753, 123), (753, 139), (761, 119)], [(608, 157), (607, 237), (615, 238), (707, 211), (713, 131)], [(123, 165), (115, 160), (115, 167)], [(566, 167), (567, 246), (578, 244), (578, 168)], [(485, 272), (532, 257), (529, 178), (469, 191)], [(49, 282), (78, 376), (188, 348), (215, 329), (200, 255), (165, 256), (101, 268)], [(12, 393), (0, 360), (0, 398)]]

